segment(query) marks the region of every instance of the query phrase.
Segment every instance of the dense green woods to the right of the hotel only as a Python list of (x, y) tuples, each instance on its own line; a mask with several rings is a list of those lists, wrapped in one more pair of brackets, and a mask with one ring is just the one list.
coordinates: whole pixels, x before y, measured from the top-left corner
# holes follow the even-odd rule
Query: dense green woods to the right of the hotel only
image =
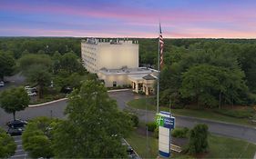
[[(139, 40), (140, 64), (157, 68), (158, 39)], [(161, 104), (256, 103), (256, 40), (165, 39)]]

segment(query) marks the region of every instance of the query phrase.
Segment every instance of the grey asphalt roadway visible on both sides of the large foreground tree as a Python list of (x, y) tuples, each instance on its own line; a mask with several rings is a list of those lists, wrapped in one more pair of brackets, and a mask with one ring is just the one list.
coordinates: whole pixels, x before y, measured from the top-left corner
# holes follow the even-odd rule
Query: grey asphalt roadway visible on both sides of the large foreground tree
[[(130, 91), (109, 93), (109, 96), (117, 100), (120, 109), (126, 108), (126, 103), (129, 100), (141, 97), (140, 95), (132, 94)], [(16, 117), (26, 120), (32, 119), (36, 116), (52, 116), (64, 118), (65, 115), (63, 113), (66, 105), (67, 101), (61, 101), (54, 104), (46, 104), (44, 106), (39, 107), (29, 107), (26, 108), (25, 111), (17, 112)], [(154, 120), (155, 113), (139, 110), (137, 110), (137, 112), (139, 119), (142, 121)], [(0, 109), (1, 126), (4, 126), (5, 123), (12, 120), (12, 118), (12, 114), (6, 114), (2, 109)], [(193, 125), (199, 123), (208, 124), (211, 133), (240, 138), (256, 144), (256, 128), (236, 124), (216, 123), (208, 120), (200, 120), (185, 116), (176, 116), (177, 126), (192, 127)]]

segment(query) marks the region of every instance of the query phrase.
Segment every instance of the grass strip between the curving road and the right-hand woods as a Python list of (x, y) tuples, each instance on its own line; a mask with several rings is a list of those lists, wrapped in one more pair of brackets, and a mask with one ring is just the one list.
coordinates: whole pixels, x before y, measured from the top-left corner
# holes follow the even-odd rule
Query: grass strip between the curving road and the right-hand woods
[[(156, 111), (156, 105), (153, 104), (153, 98), (140, 98), (140, 99), (134, 99), (132, 101), (128, 102), (128, 105), (133, 108), (137, 109), (147, 109), (150, 111)], [(168, 111), (168, 107), (159, 107), (159, 110), (161, 111)], [(216, 120), (220, 122), (227, 122), (227, 123), (233, 123), (233, 124), (246, 124), (250, 126), (255, 126), (255, 124), (251, 124), (249, 119), (246, 118), (235, 118), (230, 117), (223, 114), (218, 114), (213, 112), (212, 110), (192, 110), (192, 109), (171, 109), (172, 114), (178, 114), (178, 115), (185, 115), (185, 116), (192, 116), (192, 117), (198, 117), (198, 118), (206, 118), (210, 120)]]

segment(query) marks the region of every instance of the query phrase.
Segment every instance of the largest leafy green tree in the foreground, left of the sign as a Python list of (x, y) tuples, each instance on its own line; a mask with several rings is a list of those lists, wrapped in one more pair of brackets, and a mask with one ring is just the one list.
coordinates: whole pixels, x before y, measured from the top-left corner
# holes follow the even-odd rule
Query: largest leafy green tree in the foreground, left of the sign
[[(103, 84), (88, 80), (68, 97), (67, 121), (56, 126), (54, 151), (61, 158), (125, 157), (121, 139), (131, 130), (128, 114), (120, 112)], [(63, 140), (65, 139), (65, 140)]]

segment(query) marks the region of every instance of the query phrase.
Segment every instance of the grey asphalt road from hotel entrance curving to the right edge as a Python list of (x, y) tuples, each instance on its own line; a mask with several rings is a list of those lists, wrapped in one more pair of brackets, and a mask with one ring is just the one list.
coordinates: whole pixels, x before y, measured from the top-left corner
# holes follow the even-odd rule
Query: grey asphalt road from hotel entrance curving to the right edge
[[(118, 106), (121, 109), (130, 109), (126, 103), (132, 99), (141, 97), (141, 95), (134, 95), (128, 91), (115, 92), (109, 95), (117, 100)], [(139, 116), (139, 120), (144, 121), (145, 123), (152, 122), (155, 119), (155, 113), (153, 112), (134, 109), (132, 111), (136, 111)], [(175, 118), (176, 126), (191, 128), (195, 124), (208, 124), (210, 133), (239, 138), (256, 144), (256, 127), (252, 128), (237, 124), (216, 123), (210, 120), (197, 119), (187, 116), (175, 116)]]

